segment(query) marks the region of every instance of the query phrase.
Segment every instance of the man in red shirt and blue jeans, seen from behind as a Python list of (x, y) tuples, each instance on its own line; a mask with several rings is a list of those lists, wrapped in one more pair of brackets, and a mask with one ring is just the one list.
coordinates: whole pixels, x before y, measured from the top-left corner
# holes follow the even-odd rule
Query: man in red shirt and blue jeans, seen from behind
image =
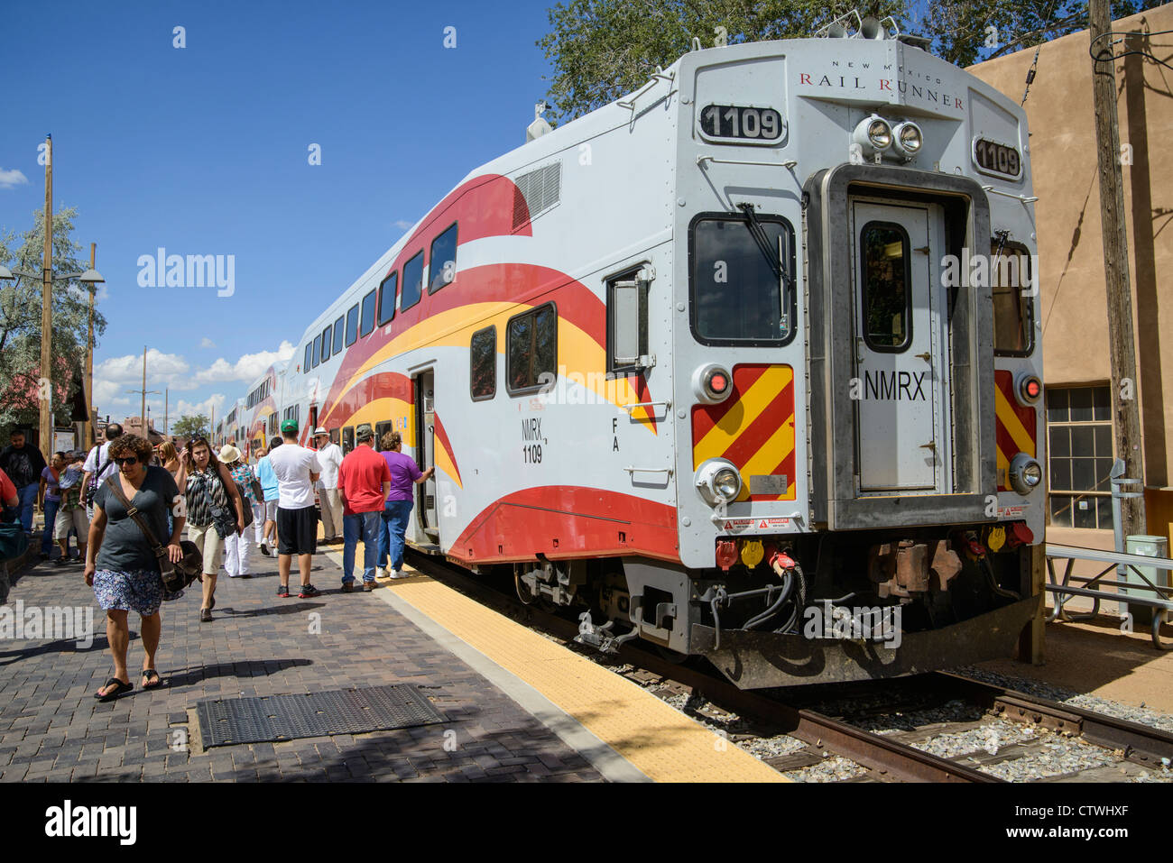
[(343, 498), (343, 592), (354, 590), (354, 551), (362, 537), (362, 590), (374, 590), (374, 564), (379, 555), (382, 504), (391, 492), (391, 469), (374, 451), (374, 432), (366, 423), (354, 433), (358, 446), (338, 469)]

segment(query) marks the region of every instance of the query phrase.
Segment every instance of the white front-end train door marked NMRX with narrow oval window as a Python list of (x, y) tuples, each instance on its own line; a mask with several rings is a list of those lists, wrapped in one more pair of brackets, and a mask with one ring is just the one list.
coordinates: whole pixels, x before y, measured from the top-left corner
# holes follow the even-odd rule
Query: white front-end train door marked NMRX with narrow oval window
[(943, 213), (874, 199), (850, 213), (859, 494), (949, 494)]

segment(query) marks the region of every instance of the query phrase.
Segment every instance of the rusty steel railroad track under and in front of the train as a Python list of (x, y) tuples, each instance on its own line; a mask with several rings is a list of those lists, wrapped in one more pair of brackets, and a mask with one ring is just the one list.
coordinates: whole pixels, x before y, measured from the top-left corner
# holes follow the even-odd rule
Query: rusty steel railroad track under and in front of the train
[[(545, 632), (548, 637), (574, 646), (578, 634), (577, 624), (536, 605), (524, 605), (515, 594), (475, 578), (462, 568), (436, 556), (409, 552), (412, 564), (449, 586), (460, 590), (477, 602), (494, 607), (520, 623)], [(1160, 769), (1173, 759), (1173, 734), (1135, 722), (1114, 719), (1071, 705), (1047, 701), (1022, 692), (988, 684), (961, 674), (938, 672), (917, 678), (899, 678), (876, 681), (872, 691), (886, 693), (887, 704), (873, 711), (873, 715), (915, 711), (934, 701), (941, 704), (961, 699), (979, 709), (979, 716), (970, 721), (930, 722), (921, 727), (880, 734), (862, 728), (843, 716), (802, 707), (809, 702), (809, 694), (818, 687), (802, 687), (805, 694), (794, 691), (745, 691), (739, 689), (716, 673), (708, 673), (689, 665), (666, 659), (632, 644), (625, 644), (616, 657), (602, 657), (595, 651), (582, 651), (585, 655), (608, 665), (622, 665), (616, 673), (624, 674), (644, 687), (655, 687), (660, 696), (685, 696), (687, 706), (697, 718), (712, 725), (723, 719), (741, 718), (753, 733), (735, 735), (737, 743), (748, 743), (755, 736), (785, 734), (802, 741), (806, 746), (798, 752), (764, 757), (762, 760), (781, 773), (840, 756), (859, 765), (862, 773), (846, 781), (877, 782), (1003, 782), (979, 767), (1006, 761), (1032, 752), (1032, 747), (1011, 748), (1009, 752), (985, 752), (971, 749), (949, 757), (935, 755), (915, 745), (925, 745), (935, 738), (957, 732), (971, 731), (1004, 719), (1029, 723), (1069, 736), (1082, 736), (1113, 752), (1121, 753), (1126, 761), (1150, 769)], [(828, 687), (821, 687), (827, 689)], [(834, 689), (834, 687), (829, 687)], [(856, 689), (857, 689), (856, 685)], [(679, 699), (677, 699), (679, 700)], [(1035, 745), (1037, 748), (1039, 745)], [(1049, 777), (1047, 781), (1114, 780), (1128, 779), (1135, 772), (1085, 770)]]

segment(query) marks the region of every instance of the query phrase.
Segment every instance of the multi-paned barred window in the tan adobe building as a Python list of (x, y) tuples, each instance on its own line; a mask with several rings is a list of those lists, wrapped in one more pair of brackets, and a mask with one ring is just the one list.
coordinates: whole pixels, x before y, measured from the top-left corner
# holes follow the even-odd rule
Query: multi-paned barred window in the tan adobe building
[(1108, 387), (1046, 388), (1050, 523), (1112, 529)]

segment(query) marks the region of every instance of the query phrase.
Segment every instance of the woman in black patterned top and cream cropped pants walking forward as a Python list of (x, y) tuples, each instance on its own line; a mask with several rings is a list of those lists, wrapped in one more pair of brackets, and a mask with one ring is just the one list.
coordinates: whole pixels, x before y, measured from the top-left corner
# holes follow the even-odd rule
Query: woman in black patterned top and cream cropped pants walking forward
[(212, 453), (205, 437), (192, 437), (184, 455), (188, 471), (188, 539), (204, 555), (204, 604), (199, 620), (212, 619), (216, 607), (216, 576), (224, 541), (244, 530), (244, 509), (236, 482)]

